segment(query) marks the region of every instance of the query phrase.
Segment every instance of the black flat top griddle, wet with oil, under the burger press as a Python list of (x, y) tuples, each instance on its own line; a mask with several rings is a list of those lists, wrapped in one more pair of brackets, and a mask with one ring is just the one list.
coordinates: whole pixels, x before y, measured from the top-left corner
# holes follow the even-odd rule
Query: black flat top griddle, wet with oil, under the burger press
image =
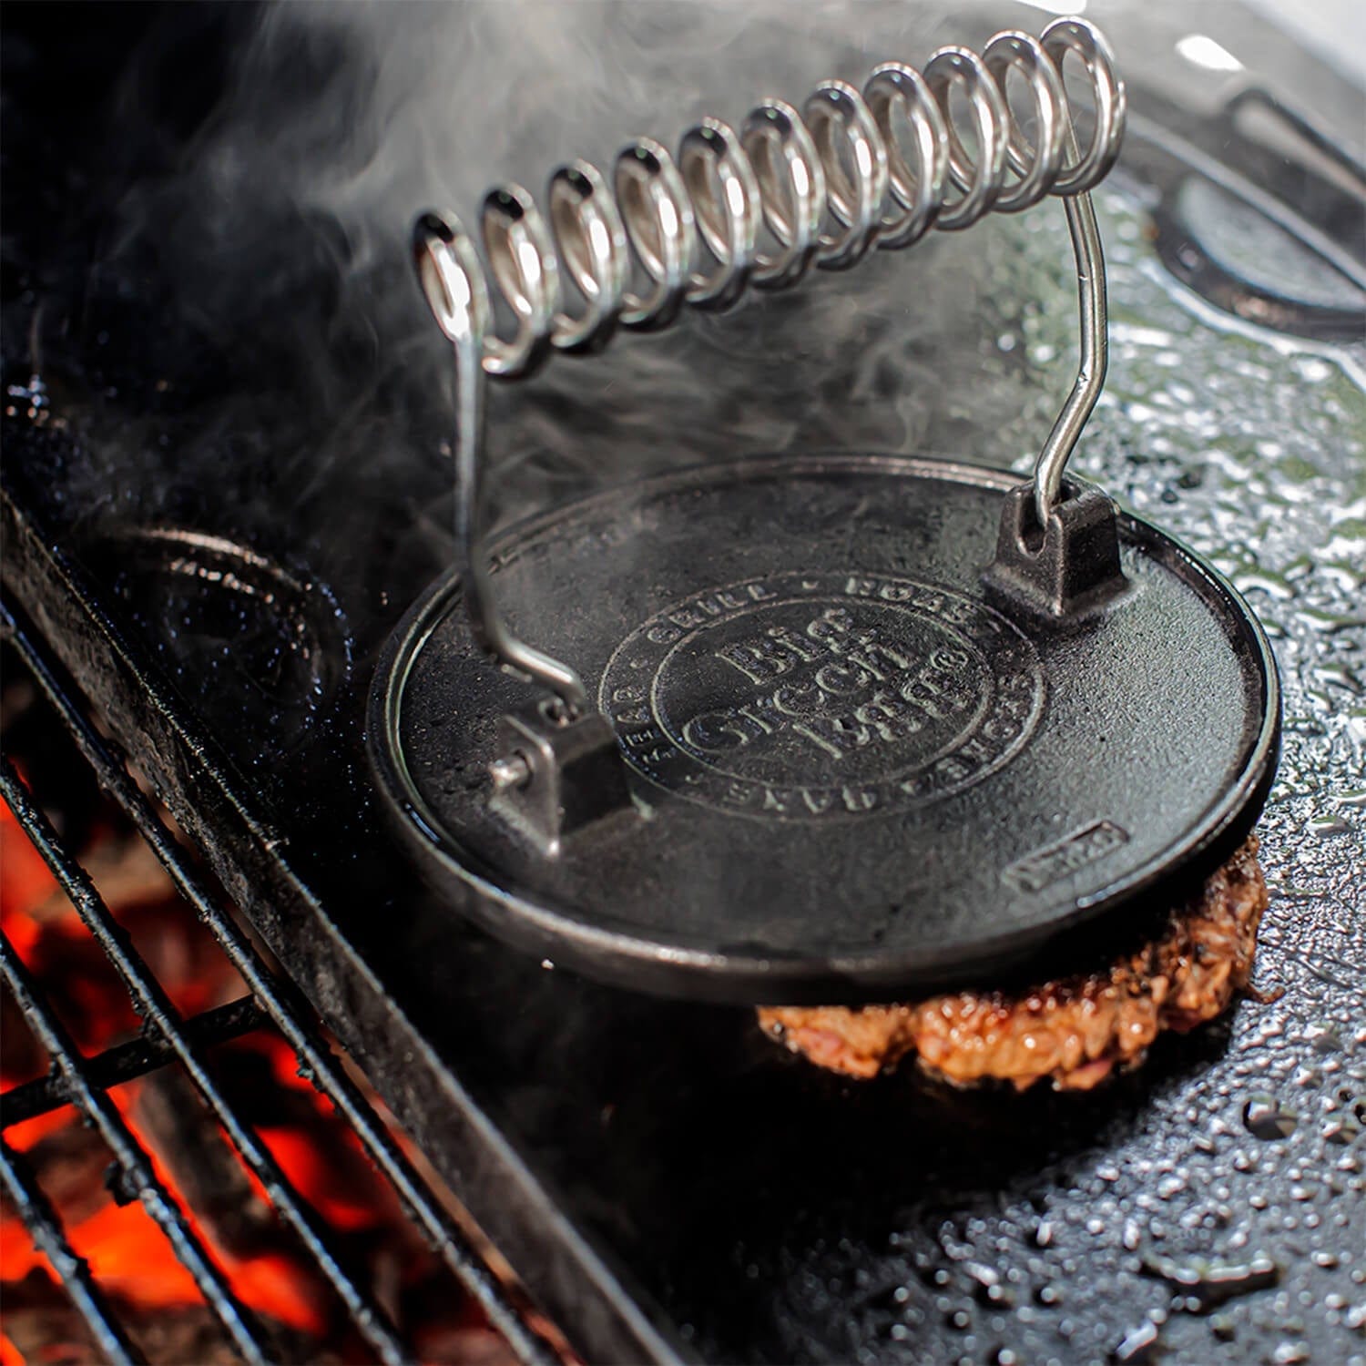
[[(574, 1341), (631, 1361), (1072, 1362), (1132, 1359), (1153, 1339), (1172, 1362), (1359, 1354), (1362, 357), (1290, 329), (1306, 326), (1294, 298), (1276, 301), (1280, 331), (1244, 326), (1228, 296), (1212, 302), (1228, 284), (1197, 270), (1212, 225), (1183, 219), (1176, 191), (1195, 143), (1217, 169), (1242, 156), (1238, 135), (1135, 92), (1149, 128), (1135, 120), (1117, 172), (1128, 179), (1101, 204), (1123, 303), (1086, 471), (1210, 557), (1277, 650), (1284, 758), (1259, 825), (1268, 999), (1165, 1041), (1100, 1093), (944, 1096), (911, 1075), (820, 1074), (775, 1049), (747, 1009), (541, 967), (423, 892), (384, 832), (362, 732), (384, 639), (448, 561), (445, 471), (421, 454), (444, 421), (404, 402), (402, 370), (376, 384), (373, 333), (331, 266), (332, 283), (301, 281), (299, 262), (335, 262), (337, 242), (298, 205), (242, 225), (239, 246), (268, 254), (277, 240), (275, 264), (290, 269), (262, 269), (228, 302), (190, 307), (168, 255), (111, 257), (102, 229), (148, 167), (112, 153), (94, 164), (102, 124), (72, 92), (97, 101), (111, 87), (98, 74), (128, 44), (111, 37), (111, 7), (85, 11), (86, 26), (68, 7), (36, 8), (30, 29), (60, 29), (46, 46), (20, 11), (4, 11), (7, 591), (61, 642), (262, 936)], [(216, 22), (190, 51), (219, 57), (243, 23), (239, 7), (175, 14)], [(1251, 60), (1266, 30), (1239, 26)], [(184, 44), (164, 40), (164, 71), (182, 71)], [(61, 63), (74, 79), (52, 79)], [(1335, 89), (1317, 66), (1302, 85)], [(119, 145), (138, 133), (120, 124)], [(1341, 206), (1313, 176), (1294, 202), (1321, 225)], [(63, 204), (83, 213), (46, 214)], [(199, 208), (180, 221), (202, 223)], [(835, 295), (549, 377), (508, 440), (523, 452), (520, 507), (642, 474), (612, 452), (652, 444), (678, 466), (790, 449), (798, 433), (810, 449), (971, 449), (1009, 464), (1048, 421), (1034, 396), (1071, 329), (1068, 284), (1057, 224), (984, 232), (933, 247), (956, 281), (975, 281), (962, 328), (933, 281), (889, 264)], [(1279, 249), (1302, 246), (1277, 232)], [(387, 285), (376, 298), (408, 298), (402, 264), (372, 283)], [(221, 326), (204, 325), (210, 305)], [(400, 324), (429, 326), (421, 303)], [(328, 417), (285, 331), (337, 348), (340, 391), (366, 396), (365, 421)], [(859, 344), (846, 347), (851, 335)], [(632, 444), (646, 372), (663, 421)], [(851, 410), (850, 392), (891, 402)], [(178, 568), (127, 552), (130, 531), (149, 530), (163, 545), (182, 537)], [(184, 533), (213, 544), (195, 552)], [(221, 574), (228, 545), (246, 557), (235, 579)], [(249, 591), (260, 560), (318, 591)], [(209, 583), (231, 589), (209, 600), (217, 611), (199, 597)], [(339, 630), (350, 665), (311, 667)]]

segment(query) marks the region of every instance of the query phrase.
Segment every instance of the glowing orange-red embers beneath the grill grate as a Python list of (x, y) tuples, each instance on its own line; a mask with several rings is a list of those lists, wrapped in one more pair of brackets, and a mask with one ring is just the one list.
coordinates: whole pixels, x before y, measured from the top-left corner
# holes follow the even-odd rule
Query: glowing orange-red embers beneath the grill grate
[[(59, 784), (57, 791), (67, 788)], [(452, 1294), (441, 1264), (350, 1126), (299, 1075), (285, 1041), (261, 1024), (236, 970), (176, 897), (148, 847), (109, 809), (72, 806), (75, 813), (52, 810), (55, 824), (78, 844), (105, 904), (183, 1015), (186, 1031), (208, 1037), (204, 1022), (224, 1024), (223, 1033), (247, 1030), (205, 1046), (202, 1057), (317, 1217), (332, 1254), (382, 1305), (415, 1356), (505, 1359), (473, 1302)], [(3, 805), (0, 928), (145, 1150), (152, 1176), (280, 1356), (373, 1359), (316, 1259), (279, 1217), (187, 1074), (163, 1065), (119, 1081), (139, 1068), (139, 1050), (156, 1048), (154, 1034), (143, 1033), (104, 951)], [(143, 1208), (112, 1149), (71, 1105), (49, 1108), (49, 1059), (8, 993), (3, 1004), (5, 1142), (34, 1173), (115, 1317), (153, 1362), (236, 1359), (191, 1269)], [(5, 1366), (11, 1359), (89, 1359), (81, 1317), (36, 1247), (25, 1213), (8, 1203), (0, 1212)]]

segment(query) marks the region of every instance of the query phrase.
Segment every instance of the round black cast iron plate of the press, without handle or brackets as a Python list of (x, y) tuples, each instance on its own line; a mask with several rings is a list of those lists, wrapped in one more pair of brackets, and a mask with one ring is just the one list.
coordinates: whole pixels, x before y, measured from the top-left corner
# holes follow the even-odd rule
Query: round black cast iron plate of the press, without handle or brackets
[(1223, 579), (1131, 516), (1131, 586), (1102, 615), (1012, 622), (979, 579), (1018, 482), (783, 456), (514, 529), (493, 550), (499, 601), (579, 669), (641, 814), (546, 858), (490, 811), (497, 717), (534, 694), (474, 645), (452, 576), (395, 632), (372, 693), (400, 831), (501, 938), (740, 1003), (989, 981), (1060, 930), (1188, 891), (1270, 784), (1266, 639)]

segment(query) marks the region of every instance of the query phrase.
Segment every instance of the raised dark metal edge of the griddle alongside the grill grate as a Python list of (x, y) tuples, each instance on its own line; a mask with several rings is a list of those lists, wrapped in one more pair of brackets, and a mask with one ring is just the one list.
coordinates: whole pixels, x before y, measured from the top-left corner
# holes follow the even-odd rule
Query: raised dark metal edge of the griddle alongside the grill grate
[[(574, 1346), (589, 1359), (697, 1361), (669, 1332), (668, 1315), (561, 1213), (549, 1184), (441, 1063), (290, 866), (283, 841), (251, 813), (249, 784), (100, 605), (87, 575), (4, 488), (0, 533), (7, 596), (550, 1318), (574, 1326)], [(374, 1035), (384, 1049), (372, 1052)], [(385, 1052), (403, 1064), (387, 1067)], [(429, 1132), (437, 1124), (440, 1141)]]

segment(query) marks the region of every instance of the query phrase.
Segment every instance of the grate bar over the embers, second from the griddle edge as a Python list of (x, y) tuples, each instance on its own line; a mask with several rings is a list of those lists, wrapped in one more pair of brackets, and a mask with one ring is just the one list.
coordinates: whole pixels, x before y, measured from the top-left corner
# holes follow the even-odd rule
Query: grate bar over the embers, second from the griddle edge
[[(76, 914), (85, 922), (86, 929), (90, 930), (100, 948), (104, 949), (109, 962), (123, 978), (128, 994), (133, 997), (138, 1012), (143, 1016), (143, 1027), (153, 1030), (175, 1056), (176, 1061), (189, 1072), (195, 1090), (199, 1091), (213, 1112), (214, 1119), (223, 1126), (232, 1146), (236, 1147), (253, 1175), (265, 1187), (276, 1212), (302, 1239), (309, 1254), (317, 1262), (318, 1270), (322, 1272), (328, 1284), (332, 1285), (346, 1305), (357, 1329), (370, 1347), (374, 1348), (385, 1366), (402, 1366), (402, 1363), (410, 1361), (410, 1355), (399, 1339), (398, 1329), (389, 1322), (388, 1315), (374, 1303), (370, 1295), (366, 1294), (336, 1259), (328, 1246), (325, 1227), (299, 1198), (270, 1150), (238, 1117), (236, 1111), (228, 1104), (217, 1082), (213, 1081), (204, 1065), (199, 1049), (182, 1029), (180, 1015), (175, 1005), (171, 1004), (161, 984), (150, 974), (142, 956), (133, 947), (131, 940), (109, 914), (104, 899), (94, 889), (89, 874), (63, 846), (57, 832), (52, 829), (48, 818), (33, 802), (27, 788), (19, 781), (14, 766), (3, 757), (0, 757), (0, 796), (8, 803), (29, 839), (38, 847), (57, 882), (61, 885), (61, 891), (70, 897), (71, 904), (76, 908)], [(7, 949), (7, 952), (8, 956), (14, 958), (12, 951)], [(16, 958), (15, 962), (18, 962)], [(46, 1038), (44, 1038), (44, 1045), (49, 1048), (49, 1052), (53, 1050)], [(64, 1046), (71, 1049), (74, 1045), (68, 1040)], [(67, 1068), (63, 1067), (63, 1074), (66, 1071)], [(81, 1072), (86, 1087), (93, 1091), (94, 1087), (89, 1081), (89, 1072), (83, 1064)]]

